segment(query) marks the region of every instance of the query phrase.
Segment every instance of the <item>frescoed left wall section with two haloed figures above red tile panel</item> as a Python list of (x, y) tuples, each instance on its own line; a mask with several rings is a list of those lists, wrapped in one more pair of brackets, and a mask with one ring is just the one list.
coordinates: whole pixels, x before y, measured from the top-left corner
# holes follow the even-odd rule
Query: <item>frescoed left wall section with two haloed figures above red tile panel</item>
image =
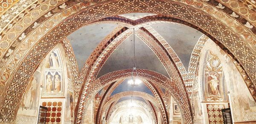
[(58, 44), (44, 60), (41, 105), (48, 108), (46, 124), (72, 124), (73, 94), (67, 90), (70, 79), (68, 71), (64, 71), (67, 68), (62, 45)]

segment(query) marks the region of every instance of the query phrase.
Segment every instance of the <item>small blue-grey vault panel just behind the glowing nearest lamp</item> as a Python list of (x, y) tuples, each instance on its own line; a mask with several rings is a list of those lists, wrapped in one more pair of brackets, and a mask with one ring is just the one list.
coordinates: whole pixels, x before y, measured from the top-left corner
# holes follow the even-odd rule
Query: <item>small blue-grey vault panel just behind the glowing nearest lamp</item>
[[(128, 84), (129, 79), (125, 79), (120, 85), (118, 85), (115, 90), (111, 93), (111, 96), (113, 96), (116, 93), (121, 93), (125, 91), (131, 91), (131, 85)], [(151, 96), (154, 96), (151, 90), (144, 85), (144, 83), (141, 83), (140, 85), (137, 85), (136, 87), (132, 87), (133, 91), (140, 91), (148, 93)]]

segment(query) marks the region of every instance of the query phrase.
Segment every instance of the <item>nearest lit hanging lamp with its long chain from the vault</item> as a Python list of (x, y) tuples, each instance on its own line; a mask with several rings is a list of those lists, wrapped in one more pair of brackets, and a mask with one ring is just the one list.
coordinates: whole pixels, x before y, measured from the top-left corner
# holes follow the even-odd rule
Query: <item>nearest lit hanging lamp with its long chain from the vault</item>
[(138, 72), (135, 66), (135, 31), (134, 31), (134, 60), (133, 61), (134, 61), (134, 67), (132, 69), (131, 79), (128, 81), (128, 84), (135, 87), (136, 85), (139, 85), (142, 82), (138, 77)]

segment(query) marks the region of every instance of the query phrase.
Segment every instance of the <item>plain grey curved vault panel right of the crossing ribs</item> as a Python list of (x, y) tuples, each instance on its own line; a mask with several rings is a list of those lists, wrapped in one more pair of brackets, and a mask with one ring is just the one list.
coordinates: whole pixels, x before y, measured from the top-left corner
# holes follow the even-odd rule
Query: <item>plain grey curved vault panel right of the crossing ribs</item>
[(193, 48), (203, 34), (194, 28), (180, 24), (160, 23), (151, 27), (169, 43), (188, 70)]

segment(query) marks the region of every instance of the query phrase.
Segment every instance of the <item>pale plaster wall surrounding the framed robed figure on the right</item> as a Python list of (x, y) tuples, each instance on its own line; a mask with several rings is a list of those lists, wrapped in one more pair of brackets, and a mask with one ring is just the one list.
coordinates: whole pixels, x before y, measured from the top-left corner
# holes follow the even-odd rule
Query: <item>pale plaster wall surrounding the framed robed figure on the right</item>
[[(256, 121), (256, 103), (253, 100), (253, 97), (250, 95), (250, 92), (245, 85), (245, 82), (242, 78), (242, 74), (239, 73), (239, 69), (234, 64), (233, 60), (230, 59), (230, 56), (225, 54), (212, 40), (208, 40), (202, 49), (201, 53), (205, 53), (205, 51), (211, 50), (214, 54), (216, 54), (221, 61), (225, 82), (227, 83), (227, 93), (230, 96), (230, 108), (232, 112), (232, 118), (234, 123), (238, 122), (255, 122)], [(203, 55), (202, 55), (203, 56)], [(200, 73), (200, 68), (199, 68)], [(200, 75), (200, 74), (198, 74)], [(206, 116), (206, 107), (203, 104), (204, 111), (204, 123), (207, 123)], [(215, 103), (217, 104), (217, 103)], [(224, 103), (225, 107), (227, 103)]]

